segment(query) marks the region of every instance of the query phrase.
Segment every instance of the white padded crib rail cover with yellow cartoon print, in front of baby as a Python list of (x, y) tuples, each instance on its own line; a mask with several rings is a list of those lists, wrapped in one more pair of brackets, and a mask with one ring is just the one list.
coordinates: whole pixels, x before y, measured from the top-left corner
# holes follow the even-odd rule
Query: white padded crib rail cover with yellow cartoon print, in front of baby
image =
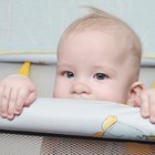
[(138, 107), (89, 100), (39, 97), (0, 130), (155, 142), (155, 124)]

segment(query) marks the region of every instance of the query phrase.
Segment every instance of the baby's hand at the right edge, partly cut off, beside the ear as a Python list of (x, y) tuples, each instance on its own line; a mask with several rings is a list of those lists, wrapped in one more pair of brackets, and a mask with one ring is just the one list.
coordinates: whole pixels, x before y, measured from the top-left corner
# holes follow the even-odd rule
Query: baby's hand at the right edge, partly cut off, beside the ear
[(155, 89), (143, 90), (134, 105), (141, 106), (142, 116), (155, 124)]

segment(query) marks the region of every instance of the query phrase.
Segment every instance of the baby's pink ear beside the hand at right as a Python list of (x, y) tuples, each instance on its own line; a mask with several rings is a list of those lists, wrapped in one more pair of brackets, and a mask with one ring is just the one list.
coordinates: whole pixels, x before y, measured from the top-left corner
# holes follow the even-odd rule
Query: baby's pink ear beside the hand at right
[(144, 90), (144, 85), (142, 82), (134, 82), (131, 85), (131, 89), (128, 92), (127, 105), (140, 106), (141, 105), (140, 96), (143, 90)]

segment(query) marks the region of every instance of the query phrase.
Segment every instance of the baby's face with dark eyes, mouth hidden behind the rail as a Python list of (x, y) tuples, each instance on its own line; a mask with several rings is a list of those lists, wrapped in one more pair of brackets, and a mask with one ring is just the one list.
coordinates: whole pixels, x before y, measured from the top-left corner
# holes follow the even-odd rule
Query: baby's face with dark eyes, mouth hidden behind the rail
[(115, 38), (85, 31), (63, 39), (58, 52), (54, 97), (126, 102), (131, 78)]

